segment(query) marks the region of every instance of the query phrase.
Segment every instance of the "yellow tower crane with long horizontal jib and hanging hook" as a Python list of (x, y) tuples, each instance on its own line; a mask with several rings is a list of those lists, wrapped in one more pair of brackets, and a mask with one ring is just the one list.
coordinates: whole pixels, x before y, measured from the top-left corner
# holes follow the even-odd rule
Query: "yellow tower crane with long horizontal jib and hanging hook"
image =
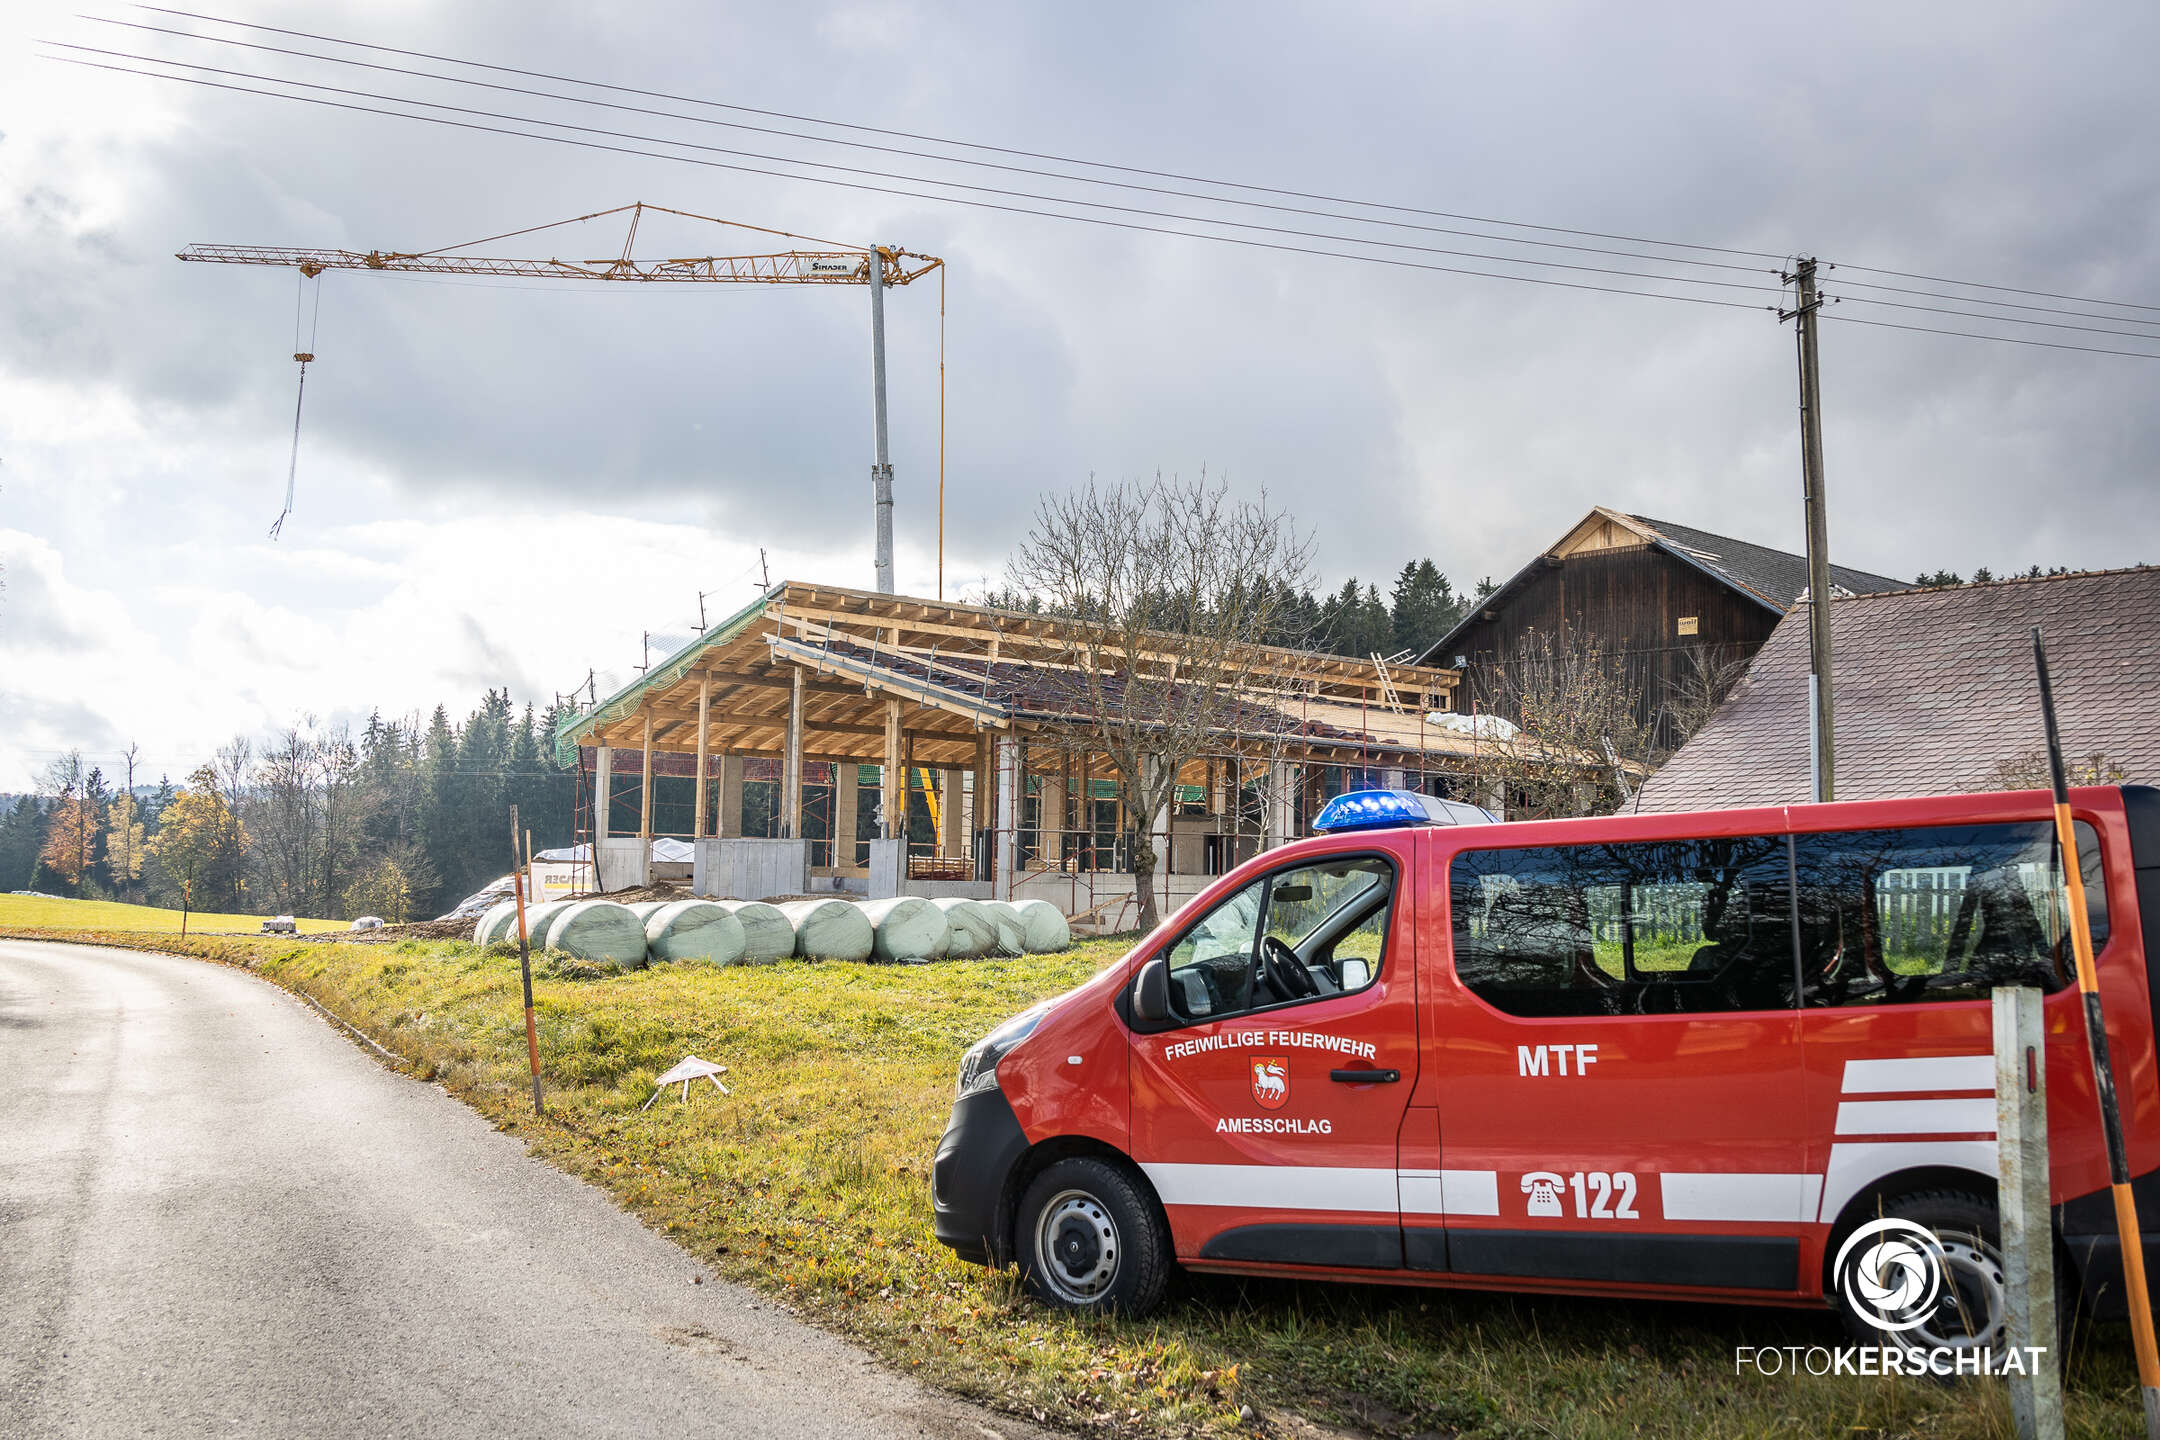
[[(633, 257), (637, 244), (637, 222), (646, 212), (680, 216), (685, 220), (706, 220), (734, 229), (778, 235), (782, 240), (810, 240), (832, 246), (825, 250), (780, 250), (771, 255), (693, 255), (676, 259)], [(607, 216), (629, 216), (629, 233), (622, 237), (622, 255), (609, 259), (503, 259), (497, 255), (467, 255), (473, 246), (531, 235), (583, 220)], [(868, 285), (870, 287), (870, 423), (873, 460), (870, 488), (875, 494), (877, 522), (877, 589), (892, 594), (892, 458), (886, 445), (886, 287), (912, 285), (931, 270), (937, 272), (937, 598), (944, 598), (944, 261), (935, 255), (916, 255), (899, 246), (849, 246), (814, 235), (793, 235), (762, 225), (698, 216), (687, 209), (665, 205), (618, 205), (590, 216), (531, 225), (484, 240), (471, 240), (441, 250), (315, 250), (305, 246), (251, 246), (251, 244), (192, 244), (179, 250), (179, 259), (207, 261), (218, 266), (283, 266), (298, 270), (305, 279), (315, 279), (326, 270), (391, 270), (404, 274), (484, 274), (523, 281), (618, 281), (631, 285)], [(307, 363), (313, 361), (313, 343), (294, 345), (300, 363), (300, 386), (305, 395)], [(298, 406), (294, 408), (294, 456), (298, 458)], [(292, 505), (287, 477), (287, 507)], [(283, 522), (283, 518), (281, 518)]]

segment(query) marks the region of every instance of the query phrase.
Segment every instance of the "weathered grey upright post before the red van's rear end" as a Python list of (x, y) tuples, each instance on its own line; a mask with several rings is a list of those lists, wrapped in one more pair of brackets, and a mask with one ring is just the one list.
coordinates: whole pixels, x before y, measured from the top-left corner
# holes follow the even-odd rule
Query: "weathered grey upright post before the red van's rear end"
[(2054, 1222), (2048, 1211), (2048, 1038), (2043, 995), (1996, 987), (1996, 1138), (2002, 1280), (2009, 1349), (2039, 1354), (2009, 1375), (2017, 1440), (2061, 1440), (2063, 1371), (2056, 1356)]

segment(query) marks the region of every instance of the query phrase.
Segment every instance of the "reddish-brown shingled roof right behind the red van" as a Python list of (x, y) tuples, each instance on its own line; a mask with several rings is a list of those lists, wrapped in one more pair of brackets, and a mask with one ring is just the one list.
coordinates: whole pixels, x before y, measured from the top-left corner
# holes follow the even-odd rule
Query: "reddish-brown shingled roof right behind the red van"
[[(2037, 756), (2035, 624), (2065, 751), (2160, 782), (2160, 568), (1840, 596), (1830, 622), (1840, 801), (1976, 790)], [(1808, 799), (1808, 611), (1793, 609), (1639, 807)]]

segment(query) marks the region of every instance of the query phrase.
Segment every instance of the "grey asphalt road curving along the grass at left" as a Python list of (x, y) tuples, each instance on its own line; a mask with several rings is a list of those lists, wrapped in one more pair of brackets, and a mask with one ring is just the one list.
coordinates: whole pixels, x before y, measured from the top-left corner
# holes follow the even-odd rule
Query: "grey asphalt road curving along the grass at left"
[(4, 1436), (1032, 1436), (689, 1254), (285, 991), (0, 941)]

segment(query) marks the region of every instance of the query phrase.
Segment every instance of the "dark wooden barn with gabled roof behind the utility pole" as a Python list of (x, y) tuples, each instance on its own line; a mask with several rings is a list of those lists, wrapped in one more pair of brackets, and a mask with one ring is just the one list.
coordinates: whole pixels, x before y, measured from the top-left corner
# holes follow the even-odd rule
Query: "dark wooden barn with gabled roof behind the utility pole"
[[(1905, 581), (1830, 568), (1836, 594), (1907, 589)], [(1523, 646), (1594, 637), (1639, 695), (1637, 719), (1670, 747), (1676, 717), (1706, 680), (1737, 678), (1808, 589), (1808, 559), (1603, 505), (1486, 596), (1419, 656), (1462, 671), (1454, 708), (1521, 719), (1506, 667)]]

